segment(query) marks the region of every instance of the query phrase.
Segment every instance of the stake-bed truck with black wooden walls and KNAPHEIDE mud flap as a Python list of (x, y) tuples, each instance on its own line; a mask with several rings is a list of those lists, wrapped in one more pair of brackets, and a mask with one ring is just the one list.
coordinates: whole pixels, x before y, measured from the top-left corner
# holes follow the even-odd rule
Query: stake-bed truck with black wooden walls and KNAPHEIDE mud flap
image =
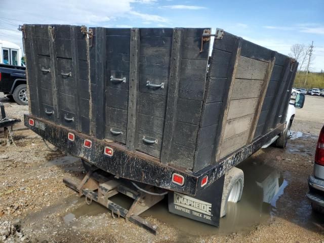
[[(85, 178), (64, 183), (114, 217), (156, 233), (139, 215), (168, 195), (170, 212), (218, 226), (244, 185), (235, 166), (286, 146), (298, 67), (288, 56), (223, 29), (21, 30), (25, 126), (82, 159)], [(134, 199), (130, 209), (109, 199), (117, 193)]]

